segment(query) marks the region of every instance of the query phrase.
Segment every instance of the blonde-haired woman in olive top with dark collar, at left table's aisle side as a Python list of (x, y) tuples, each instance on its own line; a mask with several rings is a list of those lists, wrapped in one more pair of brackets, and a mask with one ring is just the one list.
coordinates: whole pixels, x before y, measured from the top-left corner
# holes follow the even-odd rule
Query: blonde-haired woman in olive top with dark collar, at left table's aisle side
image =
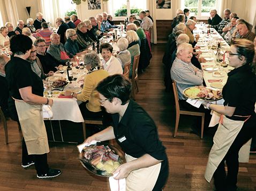
[(133, 58), (134, 55), (139, 55), (140, 54), (140, 46), (139, 46), (139, 36), (137, 33), (133, 30), (129, 30), (126, 33), (126, 39), (129, 42), (129, 45), (127, 47), (127, 50), (131, 54), (131, 67), (130, 67), (130, 74), (129, 77), (132, 77), (132, 66), (133, 66)]

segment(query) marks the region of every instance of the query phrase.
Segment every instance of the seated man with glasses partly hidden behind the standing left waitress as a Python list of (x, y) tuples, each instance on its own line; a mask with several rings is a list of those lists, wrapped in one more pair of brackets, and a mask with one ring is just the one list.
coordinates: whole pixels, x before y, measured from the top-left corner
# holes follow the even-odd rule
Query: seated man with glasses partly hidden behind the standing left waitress
[(54, 75), (53, 71), (49, 71), (48, 74), (43, 73), (43, 67), (41, 65), (41, 62), (39, 58), (36, 57), (36, 49), (35, 46), (32, 45), (31, 53), (29, 57), (27, 58), (29, 62), (31, 62), (31, 69), (34, 71), (34, 73), (37, 74), (41, 79), (45, 79), (48, 76)]

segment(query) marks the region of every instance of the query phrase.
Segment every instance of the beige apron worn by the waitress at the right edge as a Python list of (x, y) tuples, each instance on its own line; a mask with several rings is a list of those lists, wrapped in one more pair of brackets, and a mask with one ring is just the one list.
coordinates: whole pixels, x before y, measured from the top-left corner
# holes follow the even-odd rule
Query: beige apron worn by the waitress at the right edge
[[(228, 153), (230, 146), (236, 139), (237, 134), (242, 129), (244, 122), (245, 121), (230, 120), (229, 118), (223, 116), (223, 121), (219, 123), (218, 129), (214, 135), (214, 144), (212, 149), (210, 149), (209, 158), (206, 166), (205, 179), (208, 182), (210, 182), (215, 170), (223, 160), (224, 156)], [(244, 159), (244, 157), (246, 157), (248, 160), (247, 162), (249, 162), (250, 144), (251, 140), (249, 140), (245, 144), (245, 148), (247, 151), (242, 153), (239, 152), (239, 154), (243, 154), (239, 156), (239, 162), (245, 162), (246, 160)], [(244, 156), (244, 153), (247, 153), (247, 155)]]

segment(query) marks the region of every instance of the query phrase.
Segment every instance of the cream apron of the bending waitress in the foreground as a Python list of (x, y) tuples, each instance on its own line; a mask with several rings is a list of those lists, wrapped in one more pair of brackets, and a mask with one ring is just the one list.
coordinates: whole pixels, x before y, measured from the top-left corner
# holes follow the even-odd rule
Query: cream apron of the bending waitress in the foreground
[[(126, 162), (136, 160), (125, 154)], [(126, 177), (126, 191), (152, 191), (159, 176), (161, 163), (131, 171)]]

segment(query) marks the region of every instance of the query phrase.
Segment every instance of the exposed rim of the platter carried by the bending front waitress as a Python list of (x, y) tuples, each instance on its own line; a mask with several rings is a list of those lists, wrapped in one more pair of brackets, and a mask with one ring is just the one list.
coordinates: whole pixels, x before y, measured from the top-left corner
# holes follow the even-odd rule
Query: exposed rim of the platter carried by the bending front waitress
[[(123, 164), (123, 163), (126, 162), (123, 152), (121, 152), (121, 150), (119, 150), (115, 146), (107, 144), (106, 142), (97, 142), (96, 145), (97, 146), (100, 146), (100, 145), (109, 146), (109, 148), (111, 150), (114, 150), (114, 153), (119, 156), (119, 163), (120, 164)], [(90, 171), (93, 174), (95, 174), (97, 176), (100, 176), (100, 177), (111, 177), (111, 176), (113, 176), (112, 173), (108, 173), (107, 171), (97, 169), (94, 165), (92, 165), (92, 163), (89, 160), (87, 160), (84, 157), (84, 153), (86, 152), (87, 148), (88, 147), (85, 146), (84, 149), (82, 149), (82, 152), (79, 153), (79, 159), (80, 159), (80, 162), (81, 162), (82, 166), (84, 166), (84, 168), (87, 169), (88, 171)]]

